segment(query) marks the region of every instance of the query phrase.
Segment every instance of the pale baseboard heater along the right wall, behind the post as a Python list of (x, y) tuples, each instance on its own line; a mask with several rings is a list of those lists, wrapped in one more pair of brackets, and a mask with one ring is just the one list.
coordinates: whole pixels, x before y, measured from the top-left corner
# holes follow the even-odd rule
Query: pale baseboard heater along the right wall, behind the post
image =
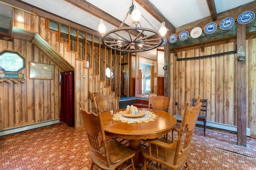
[[(182, 116), (174, 115), (174, 117), (176, 117), (176, 119), (178, 121), (182, 120)], [(202, 121), (196, 121), (196, 124), (197, 125), (204, 125), (204, 123)], [(206, 127), (222, 129), (222, 130), (225, 130), (225, 131), (232, 131), (234, 133), (237, 133), (237, 126), (233, 126), (233, 125), (227, 125), (227, 124), (216, 123), (216, 122), (212, 122), (212, 121), (206, 121)], [(246, 136), (250, 136), (250, 135), (251, 135), (251, 129), (246, 128)]]

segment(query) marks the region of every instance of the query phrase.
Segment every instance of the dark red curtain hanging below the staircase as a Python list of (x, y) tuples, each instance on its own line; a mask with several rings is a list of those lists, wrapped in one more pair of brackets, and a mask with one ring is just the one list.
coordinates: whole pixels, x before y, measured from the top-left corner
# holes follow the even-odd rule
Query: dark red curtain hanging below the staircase
[(74, 126), (74, 71), (61, 72), (60, 121)]

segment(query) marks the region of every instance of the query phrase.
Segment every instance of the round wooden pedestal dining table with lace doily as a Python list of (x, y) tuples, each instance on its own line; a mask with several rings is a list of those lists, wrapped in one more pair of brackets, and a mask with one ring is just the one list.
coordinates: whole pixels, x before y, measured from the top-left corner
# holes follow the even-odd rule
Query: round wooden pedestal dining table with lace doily
[[(139, 110), (148, 111), (148, 108), (138, 108)], [(156, 114), (154, 121), (148, 123), (126, 123), (122, 121), (113, 120), (114, 114), (124, 111), (125, 109), (113, 110), (102, 113), (102, 121), (105, 134), (109, 137), (118, 137), (129, 141), (129, 147), (135, 151), (134, 164), (138, 164), (139, 152), (142, 149), (142, 139), (154, 139), (161, 137), (168, 133), (174, 125), (176, 125), (176, 118), (164, 111), (150, 109)]]

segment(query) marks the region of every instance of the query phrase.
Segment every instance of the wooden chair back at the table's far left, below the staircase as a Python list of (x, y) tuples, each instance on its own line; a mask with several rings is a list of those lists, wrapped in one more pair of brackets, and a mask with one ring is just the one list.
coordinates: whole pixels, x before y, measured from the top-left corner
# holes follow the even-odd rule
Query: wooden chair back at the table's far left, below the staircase
[(100, 94), (98, 96), (95, 96), (94, 93), (92, 93), (92, 100), (95, 108), (100, 107), (101, 113), (116, 109), (111, 94), (110, 95)]

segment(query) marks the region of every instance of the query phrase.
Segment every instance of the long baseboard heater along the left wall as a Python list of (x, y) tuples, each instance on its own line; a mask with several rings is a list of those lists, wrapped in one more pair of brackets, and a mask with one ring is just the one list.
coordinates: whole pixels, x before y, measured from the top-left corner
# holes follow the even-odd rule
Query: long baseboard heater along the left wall
[(28, 131), (28, 130), (32, 130), (32, 129), (37, 129), (37, 128), (41, 128), (41, 127), (45, 127), (45, 126), (49, 126), (49, 125), (54, 125), (54, 124), (58, 124), (58, 123), (61, 123), (60, 119), (42, 121), (42, 122), (30, 124), (30, 125), (13, 127), (10, 129), (4, 129), (4, 130), (0, 130), (0, 137), (6, 136), (6, 135), (12, 135), (15, 133), (20, 133), (20, 132)]

